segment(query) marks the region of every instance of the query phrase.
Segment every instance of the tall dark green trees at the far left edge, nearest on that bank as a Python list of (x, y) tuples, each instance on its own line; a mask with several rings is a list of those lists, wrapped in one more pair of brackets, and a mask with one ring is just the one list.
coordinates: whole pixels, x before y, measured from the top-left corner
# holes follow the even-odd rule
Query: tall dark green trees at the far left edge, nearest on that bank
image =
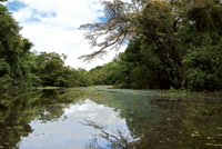
[(20, 34), (20, 27), (7, 8), (0, 4), (0, 88), (24, 88), (38, 83), (31, 73), (32, 43)]

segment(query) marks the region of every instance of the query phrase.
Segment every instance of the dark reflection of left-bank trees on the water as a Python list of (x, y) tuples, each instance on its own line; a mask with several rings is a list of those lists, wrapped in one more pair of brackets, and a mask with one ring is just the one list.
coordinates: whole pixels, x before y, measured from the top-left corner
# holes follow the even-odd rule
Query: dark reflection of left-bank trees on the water
[(75, 102), (81, 93), (65, 90), (26, 92), (17, 96), (0, 96), (0, 148), (19, 148), (21, 137), (33, 130), (30, 122), (58, 120), (70, 102)]

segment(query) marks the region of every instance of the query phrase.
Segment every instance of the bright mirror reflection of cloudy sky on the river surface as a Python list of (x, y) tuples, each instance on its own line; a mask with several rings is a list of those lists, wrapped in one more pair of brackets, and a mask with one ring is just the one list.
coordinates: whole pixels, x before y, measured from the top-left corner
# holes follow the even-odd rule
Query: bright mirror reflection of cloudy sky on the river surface
[(85, 127), (80, 122), (84, 119), (97, 121), (115, 129), (125, 127), (123, 119), (112, 108), (97, 105), (91, 100), (78, 101), (64, 109), (64, 113), (57, 121), (42, 123), (33, 120), (30, 126), (33, 132), (23, 138), (22, 149), (78, 149), (84, 148), (92, 138), (94, 129)]

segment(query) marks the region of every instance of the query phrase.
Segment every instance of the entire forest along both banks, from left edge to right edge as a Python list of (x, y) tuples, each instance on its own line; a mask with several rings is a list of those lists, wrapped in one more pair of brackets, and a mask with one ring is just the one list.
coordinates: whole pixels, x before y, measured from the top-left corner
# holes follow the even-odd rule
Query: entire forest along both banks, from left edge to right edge
[(219, 0), (113, 0), (102, 4), (105, 21), (80, 27), (88, 30), (85, 39), (100, 49), (81, 58), (91, 60), (122, 44), (128, 48), (111, 62), (87, 71), (65, 66), (65, 54), (32, 52), (33, 43), (20, 34), (21, 27), (0, 3), (0, 89), (97, 85), (222, 89)]

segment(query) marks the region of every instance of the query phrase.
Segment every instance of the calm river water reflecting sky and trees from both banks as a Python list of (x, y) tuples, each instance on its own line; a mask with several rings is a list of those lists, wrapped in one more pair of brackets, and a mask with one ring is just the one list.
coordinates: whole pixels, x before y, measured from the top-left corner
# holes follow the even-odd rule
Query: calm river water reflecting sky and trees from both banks
[(91, 87), (1, 95), (0, 149), (84, 149), (100, 133), (87, 120), (121, 130), (144, 149), (221, 149), (221, 92)]

